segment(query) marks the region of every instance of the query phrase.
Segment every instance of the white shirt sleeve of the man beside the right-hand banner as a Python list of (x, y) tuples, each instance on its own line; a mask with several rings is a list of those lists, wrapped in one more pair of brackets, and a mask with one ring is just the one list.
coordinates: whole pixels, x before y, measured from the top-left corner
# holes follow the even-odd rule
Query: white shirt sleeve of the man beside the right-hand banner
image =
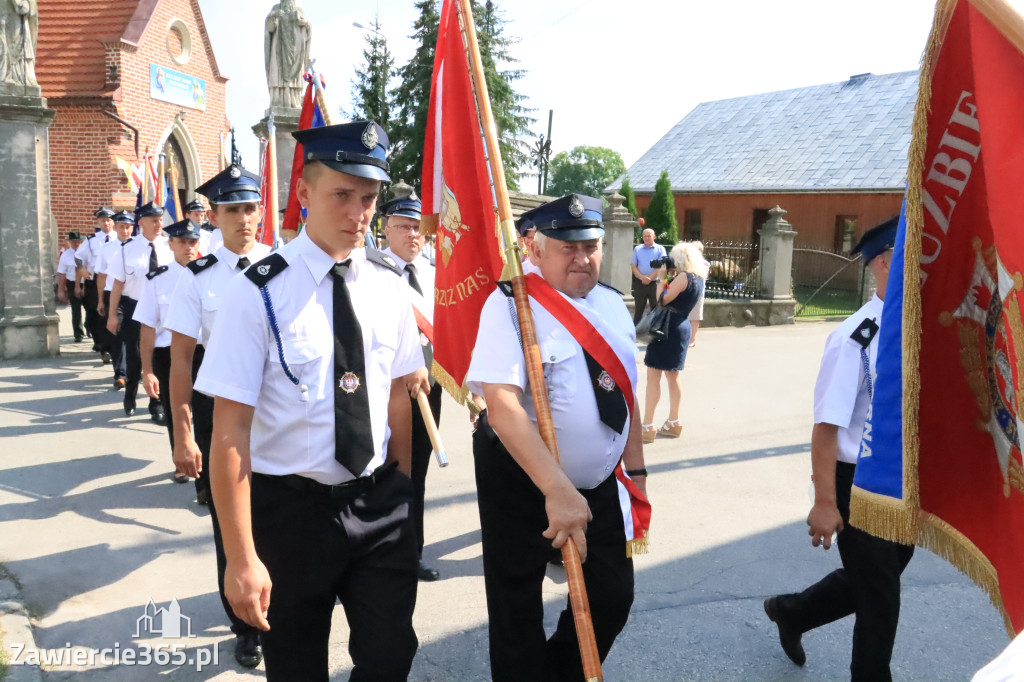
[(814, 423), (850, 428), (863, 374), (860, 353), (851, 339), (833, 333), (825, 342), (814, 383)]

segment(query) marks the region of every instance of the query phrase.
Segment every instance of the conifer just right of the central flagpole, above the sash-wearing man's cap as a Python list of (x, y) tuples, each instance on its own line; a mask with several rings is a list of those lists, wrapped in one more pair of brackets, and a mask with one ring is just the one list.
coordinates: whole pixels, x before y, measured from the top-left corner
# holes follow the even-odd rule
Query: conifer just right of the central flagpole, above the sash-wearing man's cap
[(499, 70), (499, 66), (519, 61), (511, 51), (518, 39), (505, 35), (507, 22), (492, 0), (482, 3), (473, 1), (473, 23), (476, 25), (483, 76), (490, 95), (490, 110), (498, 129), (498, 145), (505, 165), (505, 183), (509, 189), (518, 189), (519, 170), (530, 163), (528, 138), (532, 135), (529, 126), (535, 119), (529, 116), (531, 110), (523, 104), (526, 96), (516, 92), (514, 87), (514, 83), (526, 72), (521, 69)]

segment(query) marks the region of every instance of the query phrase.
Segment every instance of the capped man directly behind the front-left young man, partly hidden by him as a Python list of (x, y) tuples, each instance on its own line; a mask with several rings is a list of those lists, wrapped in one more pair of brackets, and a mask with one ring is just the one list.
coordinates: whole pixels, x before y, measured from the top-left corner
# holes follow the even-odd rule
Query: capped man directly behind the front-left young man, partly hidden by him
[(238, 166), (225, 168), (196, 191), (210, 200), (211, 222), (224, 236), (216, 254), (188, 263), (178, 280), (174, 301), (167, 314), (171, 332), (171, 413), (174, 419), (175, 470), (196, 476), (196, 500), (208, 505), (213, 522), (217, 556), (217, 584), (221, 604), (236, 635), (234, 658), (245, 668), (255, 668), (263, 658), (256, 629), (237, 616), (224, 597), (224, 549), (217, 522), (217, 509), (210, 497), (210, 439), (213, 436), (213, 398), (194, 391), (194, 370), (205, 365), (205, 348), (214, 322), (224, 303), (224, 292), (232, 279), (251, 262), (270, 252), (256, 242), (262, 218), (259, 178)]

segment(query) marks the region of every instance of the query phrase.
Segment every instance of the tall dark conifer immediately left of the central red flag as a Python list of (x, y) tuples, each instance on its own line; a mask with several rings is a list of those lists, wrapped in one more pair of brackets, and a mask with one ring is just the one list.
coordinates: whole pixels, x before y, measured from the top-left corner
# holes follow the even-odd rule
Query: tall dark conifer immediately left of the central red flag
[(416, 8), (420, 15), (413, 24), (411, 38), (419, 44), (409, 62), (397, 71), (398, 85), (391, 91), (395, 117), (387, 134), (391, 141), (391, 178), (404, 180), (419, 193), (440, 13), (437, 0), (418, 0)]

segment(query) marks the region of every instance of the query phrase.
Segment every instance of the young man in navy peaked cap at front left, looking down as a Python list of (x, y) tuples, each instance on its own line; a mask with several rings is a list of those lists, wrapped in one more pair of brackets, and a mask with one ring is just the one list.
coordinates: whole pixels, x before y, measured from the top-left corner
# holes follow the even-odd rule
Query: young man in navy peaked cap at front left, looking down
[(305, 228), (230, 283), (196, 382), (217, 400), (225, 592), (262, 631), (271, 682), (327, 679), (338, 599), (352, 679), (402, 680), (417, 648), (409, 398), (429, 389), (409, 286), (360, 248), (387, 136), (367, 121), (293, 135)]

